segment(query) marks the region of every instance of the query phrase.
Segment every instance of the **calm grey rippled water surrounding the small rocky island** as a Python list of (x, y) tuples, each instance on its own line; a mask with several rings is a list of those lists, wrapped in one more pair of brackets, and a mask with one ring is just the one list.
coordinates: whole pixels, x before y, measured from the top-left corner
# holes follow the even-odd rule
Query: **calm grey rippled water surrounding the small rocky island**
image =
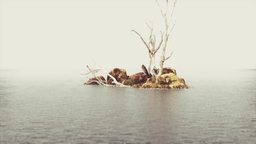
[(256, 143), (255, 72), (181, 73), (193, 89), (158, 90), (0, 70), (0, 143)]

